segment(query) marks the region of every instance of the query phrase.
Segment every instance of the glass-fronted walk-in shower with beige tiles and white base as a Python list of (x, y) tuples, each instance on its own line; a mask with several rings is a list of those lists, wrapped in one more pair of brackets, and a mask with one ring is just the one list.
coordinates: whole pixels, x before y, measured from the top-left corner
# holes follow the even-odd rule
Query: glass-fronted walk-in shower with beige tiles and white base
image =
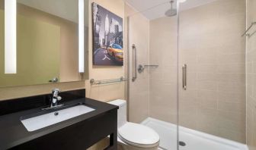
[(140, 1), (125, 6), (129, 120), (152, 127), (162, 149), (245, 150), (246, 139), (254, 145), (254, 136), (246, 137), (246, 41), (255, 40), (242, 36), (246, 1), (148, 1), (147, 8)]

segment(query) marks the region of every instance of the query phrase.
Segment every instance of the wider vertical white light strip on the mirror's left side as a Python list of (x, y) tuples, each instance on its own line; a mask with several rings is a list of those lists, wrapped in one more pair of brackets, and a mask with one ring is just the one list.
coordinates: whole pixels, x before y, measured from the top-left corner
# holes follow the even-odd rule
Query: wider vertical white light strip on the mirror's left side
[(5, 73), (17, 73), (16, 0), (5, 0)]

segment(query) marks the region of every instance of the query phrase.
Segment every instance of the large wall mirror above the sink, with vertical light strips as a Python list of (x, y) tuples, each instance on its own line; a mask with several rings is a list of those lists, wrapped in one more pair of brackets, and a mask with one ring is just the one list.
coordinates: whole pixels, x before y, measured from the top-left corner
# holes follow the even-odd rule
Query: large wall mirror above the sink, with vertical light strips
[(84, 1), (84, 49), (79, 48), (79, 0), (16, 0), (16, 73), (5, 73), (5, 1), (0, 0), (0, 87), (85, 80), (88, 64), (88, 0)]

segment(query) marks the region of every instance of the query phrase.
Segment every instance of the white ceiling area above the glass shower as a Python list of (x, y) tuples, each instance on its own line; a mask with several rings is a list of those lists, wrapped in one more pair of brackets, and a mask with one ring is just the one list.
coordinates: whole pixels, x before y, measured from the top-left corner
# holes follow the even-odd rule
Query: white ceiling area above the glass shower
[[(164, 17), (165, 11), (171, 8), (170, 1), (171, 0), (124, 0), (136, 11), (142, 12), (145, 17), (149, 20), (156, 19), (158, 17)], [(174, 8), (176, 8), (177, 0), (174, 0)], [(181, 11), (195, 8), (200, 5), (206, 5), (207, 3), (214, 2), (216, 0), (187, 0), (184, 3), (181, 3), (180, 8)]]

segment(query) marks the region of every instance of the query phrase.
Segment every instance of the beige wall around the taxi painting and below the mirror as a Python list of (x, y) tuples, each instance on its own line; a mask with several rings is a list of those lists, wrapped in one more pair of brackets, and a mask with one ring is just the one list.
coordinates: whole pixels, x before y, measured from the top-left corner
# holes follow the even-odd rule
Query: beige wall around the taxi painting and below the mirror
[[(112, 11), (120, 17), (124, 17), (124, 2), (122, 0), (90, 0), (89, 8), (91, 10), (91, 2), (97, 2), (99, 5)], [(88, 70), (89, 77), (95, 80), (113, 79), (124, 76), (124, 67), (97, 67), (92, 64), (92, 28), (91, 28), (91, 11), (89, 11), (89, 36), (88, 36)], [(124, 39), (126, 42), (126, 39)], [(125, 48), (125, 47), (124, 47)], [(85, 50), (86, 51), (86, 50)], [(124, 49), (126, 51), (126, 48)], [(124, 62), (126, 64), (126, 60)], [(91, 86), (89, 80), (70, 82), (70, 83), (55, 83), (44, 84), (36, 86), (17, 86), (9, 88), (0, 88), (0, 100), (18, 98), (30, 95), (38, 95), (49, 93), (53, 88), (59, 88), (62, 91), (70, 89), (86, 89), (86, 96), (88, 98), (94, 98), (103, 102), (108, 102), (116, 98), (125, 98), (124, 92), (125, 83), (114, 83), (104, 86)], [(91, 149), (101, 149), (102, 145), (106, 145), (106, 142), (101, 142), (98, 145), (94, 145)]]

